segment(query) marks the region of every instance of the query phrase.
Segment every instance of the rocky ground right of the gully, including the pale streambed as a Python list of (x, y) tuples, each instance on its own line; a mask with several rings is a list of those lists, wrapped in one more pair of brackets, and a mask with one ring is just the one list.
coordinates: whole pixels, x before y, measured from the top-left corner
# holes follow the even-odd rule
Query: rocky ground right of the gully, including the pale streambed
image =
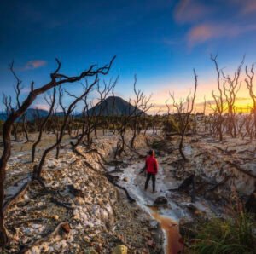
[[(123, 159), (123, 168), (116, 171), (115, 175), (122, 180), (121, 185), (137, 199), (137, 204), (154, 216), (148, 206), (155, 206), (156, 199), (166, 200), (164, 206), (158, 208), (156, 219), (161, 216), (158, 221), (165, 222), (166, 217), (169, 218), (171, 228), (172, 222), (179, 222), (183, 236), (186, 236), (191, 223), (210, 217), (229, 217), (236, 205), (241, 203), (255, 210), (254, 141), (224, 138), (224, 141), (219, 142), (206, 135), (187, 136), (183, 149), (187, 162), (180, 159), (178, 141), (178, 136), (166, 139), (162, 135), (154, 135), (148, 141), (160, 164), (156, 193), (151, 193), (150, 183), (147, 192), (143, 189), (145, 176), (140, 174), (143, 159), (134, 159), (130, 155)], [(138, 151), (145, 154), (143, 149)], [(164, 229), (168, 250), (177, 250), (179, 243), (173, 242), (173, 239), (178, 242), (183, 240), (177, 231)], [(168, 234), (171, 234), (171, 240)]]

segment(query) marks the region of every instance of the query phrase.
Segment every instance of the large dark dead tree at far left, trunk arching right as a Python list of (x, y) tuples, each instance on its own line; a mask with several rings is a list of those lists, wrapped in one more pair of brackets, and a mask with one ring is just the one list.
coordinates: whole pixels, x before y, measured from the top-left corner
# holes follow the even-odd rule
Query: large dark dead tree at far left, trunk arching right
[[(57, 68), (55, 72), (51, 73), (50, 81), (47, 84), (44, 84), (38, 89), (34, 89), (34, 83), (32, 82), (30, 92), (27, 95), (25, 101), (20, 104), (16, 109), (11, 107), (11, 112), (3, 124), (3, 153), (0, 159), (0, 246), (6, 245), (8, 242), (7, 231), (4, 227), (4, 214), (3, 214), (3, 201), (4, 201), (4, 180), (5, 180), (5, 170), (11, 155), (11, 131), (12, 126), (24, 113), (26, 109), (32, 105), (32, 102), (38, 97), (38, 95), (44, 94), (49, 89), (52, 89), (61, 84), (76, 83), (85, 77), (93, 77), (96, 74), (108, 74), (110, 67), (112, 66), (114, 58), (106, 66), (95, 68), (95, 66), (90, 66), (90, 68), (84, 72), (81, 72), (79, 76), (69, 77), (66, 74), (60, 72), (61, 62), (57, 60)], [(13, 72), (13, 64), (10, 66), (11, 71)], [(19, 83), (16, 84), (16, 88)], [(18, 89), (18, 88), (17, 88)]]

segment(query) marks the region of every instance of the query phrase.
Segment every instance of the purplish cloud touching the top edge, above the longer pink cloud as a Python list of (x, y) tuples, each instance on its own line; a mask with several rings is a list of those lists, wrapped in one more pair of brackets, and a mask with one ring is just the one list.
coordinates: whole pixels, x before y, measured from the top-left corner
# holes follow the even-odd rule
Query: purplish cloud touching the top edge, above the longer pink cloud
[(174, 19), (178, 23), (193, 23), (210, 13), (207, 6), (195, 0), (180, 0), (174, 10)]

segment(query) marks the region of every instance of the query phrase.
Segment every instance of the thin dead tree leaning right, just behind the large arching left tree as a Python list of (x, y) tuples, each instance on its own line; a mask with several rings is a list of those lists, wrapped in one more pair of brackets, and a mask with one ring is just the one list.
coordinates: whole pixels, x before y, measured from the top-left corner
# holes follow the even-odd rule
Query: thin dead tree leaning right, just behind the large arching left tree
[(43, 130), (45, 128), (45, 125), (49, 119), (49, 117), (51, 116), (51, 114), (53, 113), (53, 109), (55, 107), (55, 95), (56, 95), (56, 89), (54, 88), (54, 91), (53, 91), (53, 95), (51, 97), (51, 95), (48, 95), (48, 98), (45, 96), (45, 101), (49, 104), (49, 113), (47, 114), (47, 116), (44, 118), (42, 124), (40, 124), (40, 127), (39, 127), (39, 134), (38, 134), (38, 139), (37, 141), (35, 141), (32, 145), (32, 162), (34, 162), (35, 160), (35, 154), (36, 154), (36, 148), (39, 144), (39, 142), (41, 141), (42, 139), (42, 136), (43, 136)]

